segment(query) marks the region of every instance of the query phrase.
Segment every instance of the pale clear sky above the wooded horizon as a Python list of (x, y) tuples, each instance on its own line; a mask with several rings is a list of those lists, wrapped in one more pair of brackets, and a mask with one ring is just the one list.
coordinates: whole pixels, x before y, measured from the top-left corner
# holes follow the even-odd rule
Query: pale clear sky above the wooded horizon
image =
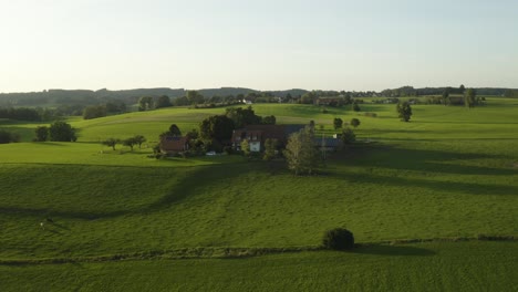
[(0, 92), (518, 87), (517, 0), (0, 0)]

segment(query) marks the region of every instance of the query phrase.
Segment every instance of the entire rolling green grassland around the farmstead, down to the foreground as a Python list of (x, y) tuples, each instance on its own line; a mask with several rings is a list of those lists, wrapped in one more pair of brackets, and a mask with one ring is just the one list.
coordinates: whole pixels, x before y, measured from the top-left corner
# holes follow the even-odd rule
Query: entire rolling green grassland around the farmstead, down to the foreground
[[(8, 291), (22, 284), (22, 290), (91, 291), (516, 288), (516, 241), (92, 262), (186, 248), (313, 249), (323, 231), (335, 227), (352, 230), (361, 243), (518, 234), (518, 100), (488, 98), (472, 109), (415, 105), (411, 123), (383, 104), (361, 105), (377, 117), (349, 108), (322, 113), (311, 105), (253, 108), (280, 124), (313, 119), (327, 135), (334, 132), (333, 117), (358, 117), (360, 143), (332, 155), (318, 176), (294, 177), (282, 161), (147, 157), (170, 124), (189, 131), (224, 108), (73, 118), (77, 143), (30, 143), (38, 124), (1, 122), (25, 142), (0, 145), (0, 283)], [(149, 145), (135, 152), (99, 144), (137, 134)], [(55, 223), (42, 230), (45, 217)], [(60, 259), (74, 263), (39, 263)]]

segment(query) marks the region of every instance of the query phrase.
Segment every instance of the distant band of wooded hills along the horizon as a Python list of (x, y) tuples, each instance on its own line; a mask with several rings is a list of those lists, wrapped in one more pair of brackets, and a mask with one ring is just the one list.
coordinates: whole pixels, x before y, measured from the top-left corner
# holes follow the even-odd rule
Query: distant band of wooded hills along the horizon
[[(518, 90), (475, 88), (478, 96), (518, 97)], [(257, 91), (242, 87), (205, 88), (187, 91), (184, 88), (136, 88), (124, 91), (89, 90), (45, 90), (29, 93), (0, 93), (0, 118), (25, 121), (51, 121), (59, 116), (83, 115), (95, 118), (128, 111), (147, 111), (165, 106), (227, 106), (244, 100), (253, 103), (314, 103), (321, 97), (342, 96), (363, 97), (406, 97), (406, 96), (448, 96), (463, 94), (464, 85), (458, 87), (402, 86), (382, 92), (345, 91)], [(360, 100), (356, 100), (360, 101)]]

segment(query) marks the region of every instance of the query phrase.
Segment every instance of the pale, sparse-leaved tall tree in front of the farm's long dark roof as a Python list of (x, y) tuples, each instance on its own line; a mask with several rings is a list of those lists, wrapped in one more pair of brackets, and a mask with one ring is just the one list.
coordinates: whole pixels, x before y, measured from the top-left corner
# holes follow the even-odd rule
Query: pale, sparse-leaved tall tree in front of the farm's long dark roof
[(314, 133), (310, 127), (305, 127), (298, 133), (293, 133), (288, 138), (284, 156), (288, 168), (296, 175), (311, 175), (319, 164), (319, 152), (314, 144)]

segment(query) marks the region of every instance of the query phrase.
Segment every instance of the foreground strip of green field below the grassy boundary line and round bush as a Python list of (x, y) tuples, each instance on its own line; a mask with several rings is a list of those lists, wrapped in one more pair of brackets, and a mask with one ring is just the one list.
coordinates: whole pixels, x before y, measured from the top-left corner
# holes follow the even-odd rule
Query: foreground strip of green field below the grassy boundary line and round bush
[(509, 254), (517, 252), (516, 242), (435, 242), (353, 253), (0, 265), (0, 281), (4, 291), (512, 291), (517, 262)]

